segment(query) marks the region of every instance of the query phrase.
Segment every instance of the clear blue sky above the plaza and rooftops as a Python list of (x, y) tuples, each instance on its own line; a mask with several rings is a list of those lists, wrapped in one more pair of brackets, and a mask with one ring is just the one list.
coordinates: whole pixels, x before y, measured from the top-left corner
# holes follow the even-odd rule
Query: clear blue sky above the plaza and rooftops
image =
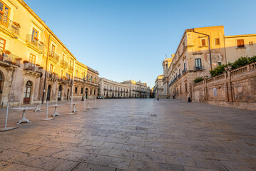
[(151, 88), (185, 29), (224, 25), (225, 35), (256, 33), (255, 0), (24, 1), (101, 77)]

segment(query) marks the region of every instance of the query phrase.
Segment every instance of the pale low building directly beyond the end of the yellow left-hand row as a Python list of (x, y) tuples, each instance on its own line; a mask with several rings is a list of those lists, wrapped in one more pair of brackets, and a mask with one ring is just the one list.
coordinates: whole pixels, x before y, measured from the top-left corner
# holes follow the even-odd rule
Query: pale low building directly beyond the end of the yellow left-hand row
[(98, 83), (99, 96), (103, 98), (130, 98), (130, 88), (128, 85), (100, 78)]

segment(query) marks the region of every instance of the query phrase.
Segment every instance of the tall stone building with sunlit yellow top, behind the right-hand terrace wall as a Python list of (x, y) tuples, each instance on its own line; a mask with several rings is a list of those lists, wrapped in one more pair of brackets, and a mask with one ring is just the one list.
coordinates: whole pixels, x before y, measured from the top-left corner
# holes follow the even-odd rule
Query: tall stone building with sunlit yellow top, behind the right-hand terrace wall
[[(192, 98), (195, 78), (210, 76), (210, 70), (227, 64), (241, 56), (256, 54), (255, 34), (225, 36), (223, 26), (210, 26), (185, 30), (175, 54), (163, 61), (164, 84), (172, 98)], [(167, 69), (168, 66), (168, 69)]]

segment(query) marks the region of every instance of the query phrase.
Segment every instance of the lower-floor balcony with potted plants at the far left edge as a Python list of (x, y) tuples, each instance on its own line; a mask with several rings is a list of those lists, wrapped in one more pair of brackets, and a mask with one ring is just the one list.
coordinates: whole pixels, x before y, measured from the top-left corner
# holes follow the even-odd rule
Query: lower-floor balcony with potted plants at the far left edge
[(0, 65), (1, 66), (20, 66), (21, 58), (10, 52), (0, 50)]

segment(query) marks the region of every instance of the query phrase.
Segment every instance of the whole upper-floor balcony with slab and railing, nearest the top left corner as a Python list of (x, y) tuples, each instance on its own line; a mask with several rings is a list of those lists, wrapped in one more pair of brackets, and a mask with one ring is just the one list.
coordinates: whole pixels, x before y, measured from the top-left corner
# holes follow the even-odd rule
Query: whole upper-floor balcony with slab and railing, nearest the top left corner
[(0, 26), (3, 28), (3, 31), (12, 38), (17, 38), (17, 36), (19, 36), (21, 26), (2, 14), (0, 14)]

